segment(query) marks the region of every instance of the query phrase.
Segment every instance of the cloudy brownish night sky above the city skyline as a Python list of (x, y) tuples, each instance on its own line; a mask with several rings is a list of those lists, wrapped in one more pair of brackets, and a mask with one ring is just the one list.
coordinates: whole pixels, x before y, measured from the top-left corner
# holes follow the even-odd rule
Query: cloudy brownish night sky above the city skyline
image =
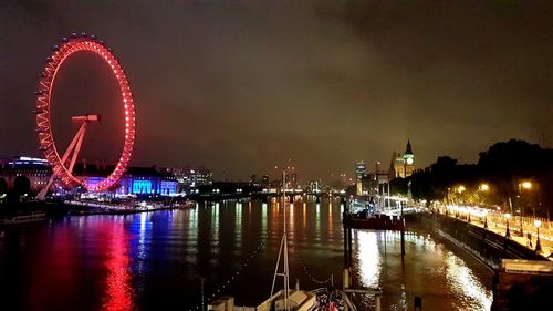
[[(552, 147), (553, 2), (526, 2), (0, 0), (0, 157), (41, 156), (38, 75), (83, 31), (127, 72), (133, 165), (246, 179), (291, 159), (306, 182), (387, 167), (408, 138), (419, 168), (509, 138)], [(52, 105), (63, 149), (71, 115), (101, 113), (83, 157), (118, 156), (123, 111), (98, 58), (64, 64)]]

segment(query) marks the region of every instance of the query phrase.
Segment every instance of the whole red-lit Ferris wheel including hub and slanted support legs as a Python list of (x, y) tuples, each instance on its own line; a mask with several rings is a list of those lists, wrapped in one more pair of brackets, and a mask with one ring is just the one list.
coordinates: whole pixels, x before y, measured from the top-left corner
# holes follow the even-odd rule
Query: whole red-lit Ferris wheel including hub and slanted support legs
[(40, 76), (39, 90), (36, 91), (36, 131), (39, 133), (40, 148), (44, 152), (44, 156), (52, 166), (52, 177), (38, 197), (44, 199), (48, 189), (54, 180), (56, 180), (61, 187), (67, 189), (77, 186), (85, 187), (84, 182), (73, 175), (73, 167), (79, 156), (79, 151), (81, 149), (88, 123), (100, 121), (101, 117), (96, 114), (73, 116), (72, 121), (80, 123), (81, 127), (70, 143), (67, 149), (60, 156), (54, 136), (52, 135), (50, 115), (55, 76), (62, 68), (63, 62), (74, 53), (80, 52), (92, 52), (102, 58), (107, 65), (109, 65), (119, 86), (121, 104), (125, 112), (125, 139), (123, 151), (114, 170), (104, 180), (87, 189), (94, 193), (111, 190), (125, 173), (128, 162), (131, 160), (135, 142), (135, 108), (127, 77), (119, 62), (112, 53), (112, 50), (106, 48), (104, 42), (97, 40), (94, 35), (86, 35), (85, 33), (77, 35), (73, 33), (71, 38), (64, 38), (62, 44), (54, 45), (54, 49), (53, 54), (46, 59), (46, 65)]

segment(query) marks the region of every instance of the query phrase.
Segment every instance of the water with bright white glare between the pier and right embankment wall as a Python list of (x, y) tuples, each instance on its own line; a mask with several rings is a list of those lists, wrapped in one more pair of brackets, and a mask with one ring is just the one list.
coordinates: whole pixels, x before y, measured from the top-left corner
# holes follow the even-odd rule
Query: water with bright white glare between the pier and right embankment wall
[[(408, 310), (415, 296), (432, 310), (490, 310), (490, 271), (429, 235), (406, 232), (405, 261), (399, 232), (354, 230), (353, 243), (354, 283), (382, 288), (384, 310)], [(358, 299), (367, 308), (374, 305), (371, 297)]]

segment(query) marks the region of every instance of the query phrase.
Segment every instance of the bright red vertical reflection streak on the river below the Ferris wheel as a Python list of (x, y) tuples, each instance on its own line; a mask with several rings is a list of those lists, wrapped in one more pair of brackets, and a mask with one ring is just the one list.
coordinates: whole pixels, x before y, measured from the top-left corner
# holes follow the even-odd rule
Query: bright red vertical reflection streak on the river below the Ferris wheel
[(109, 255), (105, 262), (107, 278), (103, 310), (132, 310), (133, 289), (129, 284), (131, 273), (126, 232), (123, 222), (114, 224), (111, 229)]

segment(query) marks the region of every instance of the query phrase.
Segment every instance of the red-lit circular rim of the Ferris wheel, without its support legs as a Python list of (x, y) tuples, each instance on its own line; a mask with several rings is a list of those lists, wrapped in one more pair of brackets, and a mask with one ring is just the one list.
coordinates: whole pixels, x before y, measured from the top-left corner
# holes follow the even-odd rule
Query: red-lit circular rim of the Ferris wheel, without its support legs
[[(44, 72), (41, 74), (39, 81), (39, 90), (36, 92), (36, 127), (39, 132), (40, 147), (44, 151), (44, 155), (48, 162), (52, 165), (52, 174), (60, 178), (61, 185), (64, 187), (84, 187), (84, 183), (83, 180), (73, 176), (73, 174), (67, 169), (67, 167), (65, 167), (60, 158), (50, 124), (50, 102), (55, 75), (62, 66), (63, 62), (73, 53), (83, 51), (93, 52), (104, 59), (107, 64), (109, 64), (112, 72), (117, 79), (119, 85), (122, 104), (125, 110), (125, 115), (135, 114), (133, 94), (131, 93), (131, 87), (128, 86), (128, 81), (123, 68), (121, 66), (115, 55), (109, 52), (109, 49), (107, 49), (96, 39), (93, 39), (91, 37), (71, 38), (66, 42), (61, 44), (61, 46), (58, 48), (50, 58), (48, 58), (48, 63)], [(112, 189), (125, 172), (125, 168), (131, 162), (131, 155), (133, 153), (133, 146), (135, 142), (134, 117), (126, 120), (125, 133), (127, 134), (125, 135), (122, 156), (119, 158), (119, 162), (117, 163), (117, 167), (121, 167), (121, 169), (114, 169), (106, 179), (98, 183), (94, 188), (87, 190), (105, 191), (107, 189)]]

